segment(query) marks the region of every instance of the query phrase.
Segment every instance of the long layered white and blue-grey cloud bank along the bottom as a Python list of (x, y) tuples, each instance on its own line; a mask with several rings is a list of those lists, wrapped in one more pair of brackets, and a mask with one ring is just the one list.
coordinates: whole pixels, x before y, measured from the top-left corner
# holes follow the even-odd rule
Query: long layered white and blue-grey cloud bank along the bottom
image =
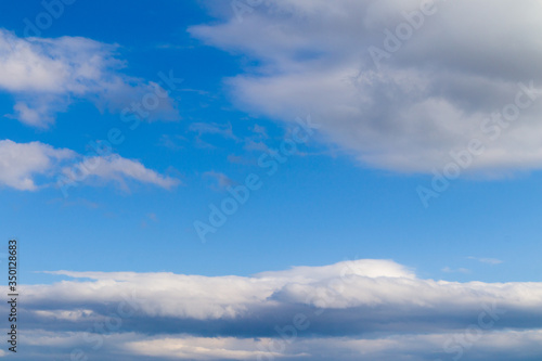
[(542, 354), (541, 283), (423, 280), (369, 259), (253, 276), (49, 273), (75, 280), (25, 286), (27, 331), (47, 324), (48, 337), (87, 348), (113, 334), (113, 354), (434, 360), (461, 350), (465, 360), (512, 360), (518, 347)]

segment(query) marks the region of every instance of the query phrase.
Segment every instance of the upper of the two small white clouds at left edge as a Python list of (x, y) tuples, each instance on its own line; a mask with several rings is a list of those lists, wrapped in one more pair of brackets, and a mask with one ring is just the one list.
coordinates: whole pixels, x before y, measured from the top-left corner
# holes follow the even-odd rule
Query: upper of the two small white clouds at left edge
[[(0, 89), (15, 98), (11, 116), (46, 128), (76, 100), (118, 111), (145, 94), (166, 94), (158, 83), (118, 73), (125, 64), (117, 48), (81, 37), (17, 38), (0, 29)], [(178, 118), (167, 94), (152, 107), (150, 120)]]

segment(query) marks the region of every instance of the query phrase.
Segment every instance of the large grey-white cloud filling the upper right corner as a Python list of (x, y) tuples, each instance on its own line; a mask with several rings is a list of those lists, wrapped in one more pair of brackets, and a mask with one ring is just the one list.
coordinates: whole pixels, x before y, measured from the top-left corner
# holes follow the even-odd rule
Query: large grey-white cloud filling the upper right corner
[(364, 164), (430, 172), (477, 139), (469, 169), (540, 168), (542, 3), (422, 3), (273, 0), (190, 31), (258, 61), (227, 80), (241, 107), (310, 113)]

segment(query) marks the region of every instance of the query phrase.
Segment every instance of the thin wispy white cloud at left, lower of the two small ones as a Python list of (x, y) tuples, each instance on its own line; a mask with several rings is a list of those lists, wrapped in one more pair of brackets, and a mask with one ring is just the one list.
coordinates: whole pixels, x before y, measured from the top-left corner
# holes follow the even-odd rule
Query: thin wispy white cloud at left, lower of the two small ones
[[(0, 185), (20, 191), (36, 191), (48, 186), (52, 179), (64, 175), (64, 183), (99, 180), (114, 181), (125, 189), (127, 180), (171, 189), (179, 180), (162, 176), (139, 160), (119, 155), (81, 156), (67, 149), (55, 149), (41, 142), (15, 143), (0, 141)], [(40, 184), (38, 184), (40, 181)], [(86, 182), (88, 183), (88, 182)]]

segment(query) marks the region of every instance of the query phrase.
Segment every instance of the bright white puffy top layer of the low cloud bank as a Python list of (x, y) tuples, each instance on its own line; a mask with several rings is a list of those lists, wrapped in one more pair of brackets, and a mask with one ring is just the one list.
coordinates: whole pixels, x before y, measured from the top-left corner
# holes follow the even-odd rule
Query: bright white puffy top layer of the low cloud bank
[(540, 283), (421, 280), (403, 266), (389, 260), (296, 267), (251, 278), (133, 272), (52, 273), (95, 281), (30, 286), (26, 291), (29, 304), (38, 300), (49, 302), (49, 299), (62, 296), (61, 304), (85, 301), (92, 308), (91, 305), (119, 301), (122, 294), (136, 292), (137, 302), (145, 314), (196, 320), (238, 319), (241, 322), (245, 317), (251, 318), (251, 311), (257, 309), (279, 307), (284, 311), (293, 305), (317, 306), (347, 313), (359, 312), (354, 309), (360, 307), (378, 307), (388, 311), (383, 313), (384, 318), (397, 314), (409, 318), (406, 310), (428, 314), (437, 310), (440, 314), (444, 310), (476, 312), (482, 304), (493, 301), (499, 301), (502, 308), (533, 308), (532, 312), (539, 312), (534, 308), (542, 300)]

